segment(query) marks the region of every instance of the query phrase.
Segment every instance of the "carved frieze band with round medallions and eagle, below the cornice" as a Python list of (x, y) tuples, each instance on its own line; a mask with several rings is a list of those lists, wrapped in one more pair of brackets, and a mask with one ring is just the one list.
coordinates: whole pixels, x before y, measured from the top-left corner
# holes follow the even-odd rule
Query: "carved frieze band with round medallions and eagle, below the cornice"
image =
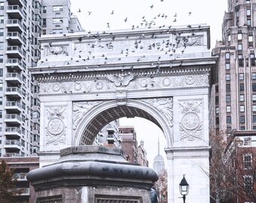
[[(172, 77), (139, 77), (136, 74), (111, 75), (97, 80), (61, 81), (59, 83), (40, 83), (41, 93), (66, 93), (66, 92), (97, 92), (112, 91), (124, 87), (129, 89), (163, 89), (177, 87), (208, 86), (207, 74), (181, 75)], [(74, 78), (75, 80), (76, 78)]]

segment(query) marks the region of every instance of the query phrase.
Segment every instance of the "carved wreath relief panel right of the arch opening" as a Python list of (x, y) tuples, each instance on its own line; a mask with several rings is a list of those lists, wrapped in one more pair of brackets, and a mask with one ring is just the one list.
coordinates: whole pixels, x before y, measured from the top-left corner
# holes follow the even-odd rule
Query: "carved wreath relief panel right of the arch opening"
[(180, 141), (201, 141), (203, 139), (202, 102), (181, 102), (181, 121), (179, 123)]

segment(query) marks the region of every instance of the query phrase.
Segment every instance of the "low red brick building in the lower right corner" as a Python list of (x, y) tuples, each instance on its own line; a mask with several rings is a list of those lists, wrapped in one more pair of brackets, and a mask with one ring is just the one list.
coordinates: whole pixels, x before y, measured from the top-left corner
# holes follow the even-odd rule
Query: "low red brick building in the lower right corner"
[[(234, 203), (251, 203), (256, 201), (256, 131), (233, 130), (224, 153), (227, 165), (225, 182)], [(229, 192), (229, 191), (227, 191)]]

